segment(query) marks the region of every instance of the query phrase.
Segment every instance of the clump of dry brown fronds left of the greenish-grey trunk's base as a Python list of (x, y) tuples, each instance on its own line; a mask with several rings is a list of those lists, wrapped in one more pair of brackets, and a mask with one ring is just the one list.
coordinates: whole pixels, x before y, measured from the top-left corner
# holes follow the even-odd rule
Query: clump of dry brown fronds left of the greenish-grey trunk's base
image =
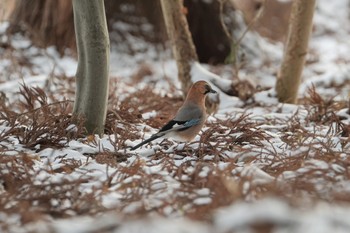
[(0, 133), (1, 141), (11, 141), (33, 150), (62, 148), (75, 138), (83, 135), (83, 119), (70, 115), (71, 102), (64, 100), (49, 103), (45, 92), (40, 88), (20, 89), (22, 100), (17, 106), (21, 113), (2, 103), (0, 122), (7, 129)]

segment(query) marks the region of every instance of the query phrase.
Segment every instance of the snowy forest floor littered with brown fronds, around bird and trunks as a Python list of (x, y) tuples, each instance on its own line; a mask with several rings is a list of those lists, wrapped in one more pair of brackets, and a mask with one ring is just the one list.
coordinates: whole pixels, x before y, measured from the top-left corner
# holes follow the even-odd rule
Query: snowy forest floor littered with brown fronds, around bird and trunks
[[(0, 231), (348, 232), (350, 19), (342, 4), (318, 6), (298, 105), (275, 97), (283, 47), (259, 39), (238, 72), (258, 91), (247, 100), (220, 92), (218, 111), (191, 143), (136, 151), (130, 146), (183, 101), (169, 53), (113, 48), (105, 134), (84, 136), (71, 115), (76, 59), (8, 38), (1, 24)], [(230, 65), (205, 68), (232, 79)]]

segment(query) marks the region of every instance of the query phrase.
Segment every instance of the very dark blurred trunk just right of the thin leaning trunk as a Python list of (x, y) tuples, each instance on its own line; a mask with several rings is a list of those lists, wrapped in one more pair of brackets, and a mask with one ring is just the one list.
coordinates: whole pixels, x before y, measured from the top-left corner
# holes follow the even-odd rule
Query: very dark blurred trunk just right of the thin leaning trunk
[[(223, 4), (222, 12), (221, 4)], [(221, 0), (186, 0), (184, 6), (188, 9), (186, 14), (188, 28), (196, 47), (199, 62), (224, 63), (230, 55), (232, 41), (223, 28), (221, 16), (225, 18), (225, 25), (229, 30), (237, 27), (234, 17), (232, 17), (234, 14), (232, 4), (229, 1)]]

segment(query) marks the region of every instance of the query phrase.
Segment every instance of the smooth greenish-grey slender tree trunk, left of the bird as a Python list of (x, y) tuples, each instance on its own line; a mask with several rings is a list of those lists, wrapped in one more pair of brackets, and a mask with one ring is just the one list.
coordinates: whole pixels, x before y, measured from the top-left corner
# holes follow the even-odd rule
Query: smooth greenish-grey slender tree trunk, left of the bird
[(74, 113), (89, 134), (103, 134), (107, 112), (109, 36), (103, 0), (73, 0), (78, 49)]

